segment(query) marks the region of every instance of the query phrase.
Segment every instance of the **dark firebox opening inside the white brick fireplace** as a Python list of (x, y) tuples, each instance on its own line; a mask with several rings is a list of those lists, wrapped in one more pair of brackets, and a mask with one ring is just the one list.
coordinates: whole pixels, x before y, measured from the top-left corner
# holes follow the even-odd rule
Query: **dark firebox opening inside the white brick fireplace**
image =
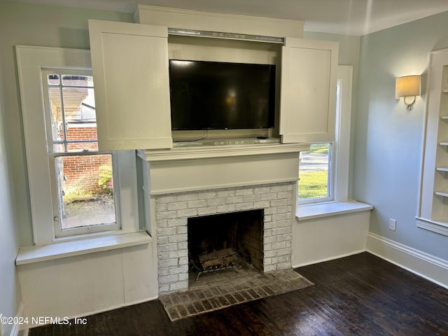
[[(204, 260), (214, 255), (221, 258), (223, 267), (236, 257), (262, 271), (263, 218), (263, 209), (188, 218), (190, 272), (205, 269)], [(230, 256), (232, 252), (235, 257)]]

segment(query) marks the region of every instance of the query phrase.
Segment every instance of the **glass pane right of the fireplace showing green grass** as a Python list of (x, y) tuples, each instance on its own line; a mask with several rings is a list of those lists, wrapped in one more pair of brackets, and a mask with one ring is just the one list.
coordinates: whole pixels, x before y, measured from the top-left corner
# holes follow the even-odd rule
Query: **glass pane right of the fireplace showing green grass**
[(330, 197), (330, 144), (312, 144), (301, 153), (299, 164), (299, 200)]

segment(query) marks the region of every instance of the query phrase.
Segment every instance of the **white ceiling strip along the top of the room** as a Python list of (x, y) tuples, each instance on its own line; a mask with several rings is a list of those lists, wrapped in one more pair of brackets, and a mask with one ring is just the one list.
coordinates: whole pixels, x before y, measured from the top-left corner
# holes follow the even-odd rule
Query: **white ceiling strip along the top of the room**
[(137, 4), (302, 20), (305, 31), (362, 36), (448, 10), (448, 0), (9, 0), (134, 13)]

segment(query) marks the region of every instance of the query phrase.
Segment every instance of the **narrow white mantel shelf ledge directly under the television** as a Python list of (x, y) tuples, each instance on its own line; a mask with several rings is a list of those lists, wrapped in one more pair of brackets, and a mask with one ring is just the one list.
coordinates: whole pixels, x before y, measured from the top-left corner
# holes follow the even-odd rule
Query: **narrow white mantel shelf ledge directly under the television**
[(228, 146), (185, 146), (145, 151), (146, 161), (230, 158), (248, 155), (298, 153), (309, 150), (309, 144), (251, 144)]

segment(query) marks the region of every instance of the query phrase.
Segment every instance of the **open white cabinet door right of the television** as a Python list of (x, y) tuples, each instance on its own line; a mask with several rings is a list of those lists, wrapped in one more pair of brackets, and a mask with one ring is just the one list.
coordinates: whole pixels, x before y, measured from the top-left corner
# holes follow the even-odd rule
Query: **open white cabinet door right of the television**
[(286, 38), (281, 59), (283, 143), (335, 140), (338, 44)]

